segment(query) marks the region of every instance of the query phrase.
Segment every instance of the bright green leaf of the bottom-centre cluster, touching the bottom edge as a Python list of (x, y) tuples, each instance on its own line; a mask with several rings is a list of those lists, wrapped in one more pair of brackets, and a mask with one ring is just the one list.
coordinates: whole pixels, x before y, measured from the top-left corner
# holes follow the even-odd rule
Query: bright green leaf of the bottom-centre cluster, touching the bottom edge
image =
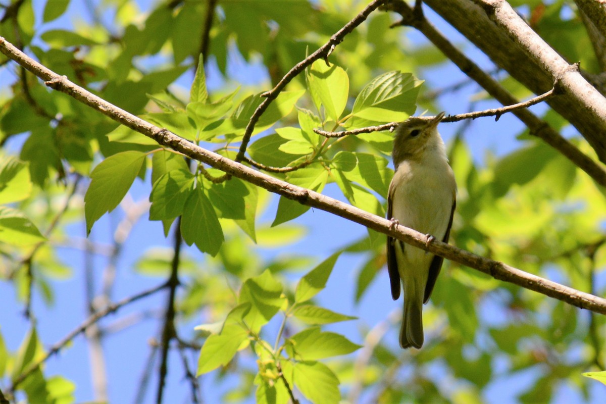
[(341, 400), (339, 379), (324, 363), (295, 363), (293, 380), (303, 395), (314, 404), (336, 404)]

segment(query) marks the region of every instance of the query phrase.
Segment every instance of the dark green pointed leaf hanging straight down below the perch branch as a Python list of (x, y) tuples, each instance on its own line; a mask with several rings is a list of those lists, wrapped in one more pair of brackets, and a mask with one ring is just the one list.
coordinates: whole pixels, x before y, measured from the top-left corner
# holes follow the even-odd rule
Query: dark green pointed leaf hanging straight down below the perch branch
[(215, 209), (199, 187), (191, 190), (185, 201), (181, 234), (187, 245), (195, 243), (200, 251), (213, 257), (225, 240)]

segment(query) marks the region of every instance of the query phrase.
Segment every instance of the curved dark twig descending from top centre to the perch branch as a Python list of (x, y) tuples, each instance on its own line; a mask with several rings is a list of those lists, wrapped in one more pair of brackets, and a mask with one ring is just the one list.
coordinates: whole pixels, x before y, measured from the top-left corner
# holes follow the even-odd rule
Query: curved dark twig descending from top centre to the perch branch
[(240, 150), (238, 151), (238, 155), (236, 156), (236, 161), (240, 162), (244, 160), (244, 154), (248, 148), (248, 142), (250, 141), (250, 137), (253, 134), (253, 130), (255, 129), (255, 125), (261, 115), (267, 110), (271, 102), (278, 97), (278, 94), (284, 90), (284, 87), (296, 76), (301, 73), (307, 66), (311, 65), (318, 59), (328, 58), (328, 55), (335, 49), (335, 46), (340, 44), (348, 33), (353, 31), (358, 25), (362, 24), (365, 19), (368, 18), (371, 12), (373, 12), (376, 8), (382, 5), (387, 0), (373, 0), (370, 4), (368, 4), (364, 10), (362, 10), (357, 16), (351, 19), (350, 22), (345, 24), (343, 28), (338, 30), (335, 35), (331, 36), (328, 42), (326, 42), (322, 47), (316, 50), (311, 55), (307, 56), (307, 58), (303, 59), (301, 62), (293, 66), (286, 75), (276, 84), (274, 88), (266, 93), (262, 94), (265, 97), (264, 101), (261, 102), (259, 107), (255, 110), (253, 115), (250, 117), (248, 124), (246, 125), (246, 130), (244, 131), (244, 137), (242, 138), (242, 143), (240, 145)]

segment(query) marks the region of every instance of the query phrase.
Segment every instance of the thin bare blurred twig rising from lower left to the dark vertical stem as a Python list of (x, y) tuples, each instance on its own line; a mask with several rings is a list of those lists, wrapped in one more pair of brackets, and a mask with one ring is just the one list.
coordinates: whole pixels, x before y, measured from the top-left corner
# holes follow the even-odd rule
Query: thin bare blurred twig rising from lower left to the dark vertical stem
[(154, 293), (166, 288), (167, 286), (168, 286), (168, 283), (162, 283), (162, 285), (155, 286), (154, 288), (142, 291), (141, 293), (138, 293), (133, 296), (127, 297), (125, 299), (122, 299), (117, 303), (110, 304), (106, 308), (104, 308), (104, 310), (99, 310), (92, 316), (89, 316), (78, 327), (76, 327), (70, 333), (68, 333), (67, 336), (63, 337), (62, 340), (55, 343), (55, 345), (51, 346), (50, 349), (48, 350), (48, 352), (44, 356), (42, 356), (41, 358), (36, 360), (36, 362), (33, 362), (24, 371), (22, 371), (22, 373), (18, 377), (16, 377), (15, 380), (13, 380), (13, 383), (10, 386), (10, 388), (8, 389), (8, 391), (9, 392), (15, 391), (17, 386), (19, 386), (25, 379), (27, 379), (27, 377), (30, 376), (30, 374), (32, 374), (33, 371), (38, 369), (40, 367), (40, 365), (42, 365), (42, 363), (46, 362), (48, 360), (48, 358), (50, 358), (54, 354), (58, 353), (61, 350), (61, 348), (63, 348), (68, 343), (70, 343), (75, 337), (77, 337), (79, 334), (83, 333), (88, 327), (95, 324), (96, 322), (101, 320), (103, 317), (107, 316), (108, 314), (114, 313), (115, 311), (118, 311), (120, 308), (122, 308), (125, 305), (136, 302), (137, 300), (141, 300), (144, 297), (150, 296), (151, 294), (154, 294)]

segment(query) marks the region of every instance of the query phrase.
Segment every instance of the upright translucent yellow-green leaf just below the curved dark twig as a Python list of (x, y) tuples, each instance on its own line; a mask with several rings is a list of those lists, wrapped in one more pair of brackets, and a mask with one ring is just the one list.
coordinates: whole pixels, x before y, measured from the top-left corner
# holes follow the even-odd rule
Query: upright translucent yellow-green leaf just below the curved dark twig
[(327, 117), (338, 122), (347, 105), (349, 78), (341, 67), (325, 61), (313, 62), (307, 72), (307, 83), (316, 107), (324, 105)]

